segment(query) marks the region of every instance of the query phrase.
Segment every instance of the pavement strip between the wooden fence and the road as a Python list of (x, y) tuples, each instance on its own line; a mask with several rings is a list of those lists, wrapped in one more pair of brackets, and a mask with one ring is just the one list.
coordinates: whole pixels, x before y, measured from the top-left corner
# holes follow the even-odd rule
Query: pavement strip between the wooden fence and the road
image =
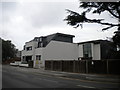
[(70, 72), (25, 68), (25, 67), (18, 67), (18, 68), (27, 72), (33, 72), (35, 74), (50, 75), (55, 77), (63, 77), (63, 78), (76, 79), (76, 80), (120, 83), (120, 76), (118, 75), (70, 73)]

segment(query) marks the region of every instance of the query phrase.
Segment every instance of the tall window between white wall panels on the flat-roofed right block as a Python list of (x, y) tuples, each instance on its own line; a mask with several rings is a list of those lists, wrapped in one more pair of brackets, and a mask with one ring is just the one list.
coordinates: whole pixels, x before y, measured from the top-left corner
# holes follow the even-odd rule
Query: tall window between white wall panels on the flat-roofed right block
[(83, 45), (83, 56), (84, 58), (92, 58), (91, 43), (85, 43)]

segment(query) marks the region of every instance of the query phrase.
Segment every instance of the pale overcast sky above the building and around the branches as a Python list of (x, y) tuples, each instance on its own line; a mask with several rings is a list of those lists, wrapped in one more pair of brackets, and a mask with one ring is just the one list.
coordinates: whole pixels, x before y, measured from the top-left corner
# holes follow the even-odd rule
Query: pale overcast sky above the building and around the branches
[[(25, 0), (26, 1), (26, 0)], [(34, 37), (46, 36), (53, 33), (64, 33), (75, 35), (74, 43), (106, 39), (112, 37), (116, 28), (102, 31), (102, 25), (84, 24), (83, 28), (75, 29), (66, 24), (63, 19), (68, 15), (65, 9), (81, 12), (79, 1), (27, 1), (16, 0), (0, 2), (0, 37), (11, 40), (19, 50), (23, 49), (25, 42)], [(107, 13), (101, 17), (88, 14), (90, 18), (106, 18), (107, 21), (117, 22)]]

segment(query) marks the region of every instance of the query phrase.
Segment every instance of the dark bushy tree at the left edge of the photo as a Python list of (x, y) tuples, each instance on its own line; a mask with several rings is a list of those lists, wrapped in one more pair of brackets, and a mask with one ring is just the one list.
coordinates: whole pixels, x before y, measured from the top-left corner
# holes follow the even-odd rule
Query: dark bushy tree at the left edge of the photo
[(10, 40), (2, 39), (2, 61), (13, 58), (16, 55), (15, 45), (11, 43)]

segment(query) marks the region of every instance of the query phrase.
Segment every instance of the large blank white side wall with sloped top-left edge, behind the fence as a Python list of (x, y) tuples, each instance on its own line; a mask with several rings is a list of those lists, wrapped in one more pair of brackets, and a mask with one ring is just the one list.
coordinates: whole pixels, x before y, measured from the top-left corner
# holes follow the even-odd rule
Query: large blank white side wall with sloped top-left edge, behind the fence
[(77, 60), (77, 44), (51, 41), (44, 50), (44, 60)]

